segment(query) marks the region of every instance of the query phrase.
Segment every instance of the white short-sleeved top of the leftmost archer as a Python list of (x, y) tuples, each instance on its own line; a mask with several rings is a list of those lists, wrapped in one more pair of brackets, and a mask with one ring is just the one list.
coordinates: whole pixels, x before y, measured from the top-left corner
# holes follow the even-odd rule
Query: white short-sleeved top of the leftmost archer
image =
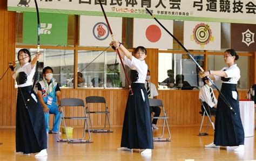
[(33, 76), (35, 75), (36, 72), (36, 65), (31, 69), (31, 64), (27, 62), (24, 64), (22, 67), (19, 67), (17, 71), (15, 71), (15, 74), (12, 75), (12, 78), (16, 80), (19, 72), (24, 72), (27, 75), (27, 80), (24, 84), (18, 85), (18, 87), (26, 87), (26, 86), (32, 86), (33, 85)]

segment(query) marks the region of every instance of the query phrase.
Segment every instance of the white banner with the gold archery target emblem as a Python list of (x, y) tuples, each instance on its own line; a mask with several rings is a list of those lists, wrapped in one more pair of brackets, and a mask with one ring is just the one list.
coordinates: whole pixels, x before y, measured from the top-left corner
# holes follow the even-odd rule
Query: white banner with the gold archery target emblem
[(185, 21), (184, 46), (193, 50), (220, 50), (220, 23)]

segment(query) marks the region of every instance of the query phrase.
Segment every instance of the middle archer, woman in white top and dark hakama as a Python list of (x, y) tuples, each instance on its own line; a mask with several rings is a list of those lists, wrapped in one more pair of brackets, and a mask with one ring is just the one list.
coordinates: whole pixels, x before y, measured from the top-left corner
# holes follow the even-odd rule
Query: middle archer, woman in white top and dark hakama
[[(144, 83), (147, 74), (146, 48), (138, 46), (134, 56), (119, 42), (112, 41), (110, 46), (119, 49), (124, 64), (131, 68), (133, 95), (126, 103), (121, 148), (118, 150), (145, 149), (141, 153), (149, 154), (153, 149), (149, 100)], [(143, 119), (142, 119), (143, 118)], [(134, 131), (134, 132), (130, 132)]]

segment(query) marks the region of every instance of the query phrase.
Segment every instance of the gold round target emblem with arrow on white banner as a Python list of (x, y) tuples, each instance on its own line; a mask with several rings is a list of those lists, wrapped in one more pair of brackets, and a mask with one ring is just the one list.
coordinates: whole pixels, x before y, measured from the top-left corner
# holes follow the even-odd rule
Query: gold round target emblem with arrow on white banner
[(210, 41), (214, 41), (210, 26), (205, 23), (197, 24), (193, 29), (191, 40), (199, 44), (201, 48), (204, 48)]

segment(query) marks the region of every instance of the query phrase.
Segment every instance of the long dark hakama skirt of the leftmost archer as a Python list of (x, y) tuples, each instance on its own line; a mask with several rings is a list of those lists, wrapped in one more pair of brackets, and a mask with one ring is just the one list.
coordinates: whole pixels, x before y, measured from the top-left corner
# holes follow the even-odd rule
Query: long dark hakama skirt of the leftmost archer
[[(31, 97), (32, 87), (19, 87), (16, 107), (16, 152), (35, 153), (47, 148), (44, 111)], [(36, 96), (35, 92), (32, 92)], [(30, 101), (26, 101), (30, 97)], [(24, 100), (23, 100), (24, 98)], [(37, 97), (36, 97), (37, 98)], [(25, 103), (28, 108), (25, 107)]]

